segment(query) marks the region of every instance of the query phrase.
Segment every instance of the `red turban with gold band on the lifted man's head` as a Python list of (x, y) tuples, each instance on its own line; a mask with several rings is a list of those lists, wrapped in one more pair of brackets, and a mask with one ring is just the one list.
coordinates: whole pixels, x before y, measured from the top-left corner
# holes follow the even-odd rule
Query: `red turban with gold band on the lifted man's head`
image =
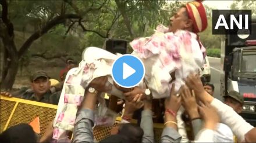
[(186, 4), (189, 18), (193, 21), (193, 32), (202, 32), (207, 28), (207, 16), (201, 1), (193, 1)]

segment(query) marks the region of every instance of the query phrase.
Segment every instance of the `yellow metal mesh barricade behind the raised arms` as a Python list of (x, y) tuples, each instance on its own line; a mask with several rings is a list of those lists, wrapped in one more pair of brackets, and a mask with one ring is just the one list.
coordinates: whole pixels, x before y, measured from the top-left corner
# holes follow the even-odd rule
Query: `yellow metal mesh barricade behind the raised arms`
[[(49, 122), (54, 120), (58, 106), (46, 104), (42, 102), (23, 100), (15, 97), (1, 96), (0, 100), (0, 133), (20, 123), (30, 123), (35, 118), (40, 120), (40, 138), (45, 133)], [(120, 123), (121, 118), (116, 118), (113, 126)], [(96, 126), (94, 128), (94, 137), (97, 141), (111, 134), (111, 127)], [(155, 142), (159, 142), (163, 124), (154, 124), (154, 138)]]

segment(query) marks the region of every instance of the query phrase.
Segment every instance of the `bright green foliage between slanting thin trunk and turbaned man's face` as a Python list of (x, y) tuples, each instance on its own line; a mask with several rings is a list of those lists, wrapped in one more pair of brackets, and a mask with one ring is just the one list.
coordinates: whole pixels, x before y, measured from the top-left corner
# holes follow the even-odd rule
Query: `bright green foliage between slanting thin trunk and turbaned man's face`
[[(138, 36), (148, 36), (158, 24), (169, 23), (170, 11), (175, 12), (180, 2), (166, 3), (166, 1), (118, 1), (115, 0), (118, 10), (131, 39)], [(134, 32), (136, 31), (136, 32)]]

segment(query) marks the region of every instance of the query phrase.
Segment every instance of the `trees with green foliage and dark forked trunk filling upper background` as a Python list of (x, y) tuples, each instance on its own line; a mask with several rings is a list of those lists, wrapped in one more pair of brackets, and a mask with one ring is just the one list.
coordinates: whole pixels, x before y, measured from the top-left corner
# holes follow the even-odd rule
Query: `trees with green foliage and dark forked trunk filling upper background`
[[(1, 88), (11, 89), (19, 64), (31, 56), (55, 58), (65, 56), (67, 49), (77, 56), (87, 46), (104, 45), (108, 38), (130, 41), (137, 36), (151, 35), (155, 27), (169, 22), (168, 9), (177, 3), (165, 1), (0, 1), (0, 40), (3, 45)], [(17, 43), (15, 34), (23, 32), (24, 42)], [(31, 34), (28, 38), (25, 35)], [(65, 42), (70, 39), (72, 42)], [(43, 43), (41, 49), (31, 45)], [(35, 42), (37, 41), (37, 42)], [(61, 52), (60, 52), (61, 51)], [(71, 52), (72, 51), (72, 52)], [(52, 54), (54, 53), (54, 54)], [(47, 54), (52, 54), (46, 56)], [(23, 64), (22, 64), (23, 65)]]

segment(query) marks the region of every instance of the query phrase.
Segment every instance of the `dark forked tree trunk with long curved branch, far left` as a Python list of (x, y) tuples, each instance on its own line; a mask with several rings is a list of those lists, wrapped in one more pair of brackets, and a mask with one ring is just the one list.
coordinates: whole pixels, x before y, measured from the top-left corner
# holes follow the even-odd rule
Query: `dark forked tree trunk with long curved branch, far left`
[(40, 38), (42, 35), (47, 33), (51, 28), (58, 24), (65, 23), (66, 19), (81, 19), (77, 14), (67, 13), (61, 16), (56, 16), (54, 19), (48, 21), (41, 30), (35, 31), (26, 42), (23, 43), (19, 51), (15, 46), (14, 42), (14, 30), (13, 24), (8, 18), (8, 2), (7, 0), (0, 0), (0, 5), (2, 6), (2, 15), (0, 19), (0, 38), (3, 42), (3, 47), (5, 48), (4, 56), (4, 67), (1, 79), (1, 89), (12, 89), (15, 82), (15, 77), (19, 69), (19, 59), (27, 52), (27, 49), (31, 44)]

